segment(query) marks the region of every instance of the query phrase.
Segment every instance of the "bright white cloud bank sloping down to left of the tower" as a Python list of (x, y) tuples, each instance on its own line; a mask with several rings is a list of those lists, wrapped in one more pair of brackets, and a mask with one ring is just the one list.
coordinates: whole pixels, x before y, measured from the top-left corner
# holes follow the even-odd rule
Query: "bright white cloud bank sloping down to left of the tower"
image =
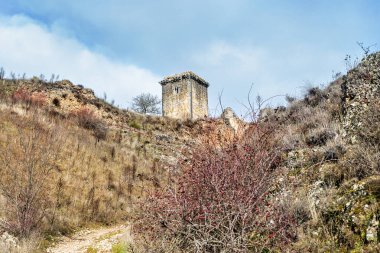
[(56, 30), (26, 16), (0, 16), (0, 66), (27, 76), (59, 74), (124, 107), (142, 92), (160, 94), (152, 71), (115, 62)]

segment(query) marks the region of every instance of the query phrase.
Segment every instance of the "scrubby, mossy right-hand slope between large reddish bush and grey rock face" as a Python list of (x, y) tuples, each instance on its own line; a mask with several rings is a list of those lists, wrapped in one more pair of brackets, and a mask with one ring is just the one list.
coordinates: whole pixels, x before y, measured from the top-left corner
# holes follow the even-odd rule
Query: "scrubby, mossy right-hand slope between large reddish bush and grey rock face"
[[(342, 128), (340, 78), (311, 88), (301, 100), (265, 120), (277, 122), (289, 184), (290, 209), (297, 218), (295, 252), (378, 252), (380, 239), (380, 107), (361, 115), (359, 142), (351, 145)], [(374, 186), (377, 185), (377, 186)], [(376, 227), (377, 226), (377, 227)], [(368, 231), (378, 231), (368, 237)]]

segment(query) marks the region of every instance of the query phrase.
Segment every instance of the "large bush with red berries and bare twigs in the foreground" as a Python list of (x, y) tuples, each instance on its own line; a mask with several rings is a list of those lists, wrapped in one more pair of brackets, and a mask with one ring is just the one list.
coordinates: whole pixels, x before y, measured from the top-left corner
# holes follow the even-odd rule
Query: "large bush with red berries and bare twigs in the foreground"
[(290, 215), (270, 198), (279, 152), (251, 133), (222, 150), (198, 149), (177, 183), (143, 204), (135, 231), (184, 252), (261, 252), (291, 240)]

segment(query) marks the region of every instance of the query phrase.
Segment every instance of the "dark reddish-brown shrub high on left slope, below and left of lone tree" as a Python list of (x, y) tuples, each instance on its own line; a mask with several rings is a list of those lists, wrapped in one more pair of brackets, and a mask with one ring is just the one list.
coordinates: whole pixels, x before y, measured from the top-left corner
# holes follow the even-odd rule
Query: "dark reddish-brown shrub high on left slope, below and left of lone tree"
[(73, 111), (71, 115), (76, 118), (79, 126), (92, 130), (98, 140), (104, 140), (107, 137), (108, 129), (106, 124), (91, 109), (81, 107)]

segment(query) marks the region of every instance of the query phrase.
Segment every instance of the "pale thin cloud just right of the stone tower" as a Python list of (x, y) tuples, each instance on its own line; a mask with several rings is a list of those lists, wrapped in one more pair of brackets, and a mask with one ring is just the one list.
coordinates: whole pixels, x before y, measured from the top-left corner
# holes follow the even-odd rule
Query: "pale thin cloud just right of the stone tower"
[(276, 96), (270, 105), (284, 104), (282, 95), (300, 96), (309, 83), (320, 85), (331, 81), (333, 70), (342, 71), (343, 56), (311, 45), (269, 48), (216, 41), (193, 52), (191, 61), (211, 84), (211, 111), (218, 105), (218, 94), (223, 90), (224, 107), (232, 106), (239, 115), (244, 115), (246, 109), (242, 104), (247, 105), (252, 84), (253, 100), (257, 95), (264, 99)]

